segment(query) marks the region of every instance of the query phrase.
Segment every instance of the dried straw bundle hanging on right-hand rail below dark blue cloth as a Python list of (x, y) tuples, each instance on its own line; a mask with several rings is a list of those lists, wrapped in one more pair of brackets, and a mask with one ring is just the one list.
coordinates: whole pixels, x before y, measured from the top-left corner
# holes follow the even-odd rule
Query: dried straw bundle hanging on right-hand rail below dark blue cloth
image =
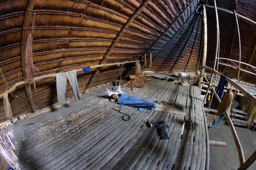
[(225, 114), (225, 113), (229, 114), (233, 97), (234, 97), (234, 93), (232, 92), (232, 90), (230, 88), (225, 93), (224, 97), (222, 98), (222, 100), (218, 106), (218, 115)]

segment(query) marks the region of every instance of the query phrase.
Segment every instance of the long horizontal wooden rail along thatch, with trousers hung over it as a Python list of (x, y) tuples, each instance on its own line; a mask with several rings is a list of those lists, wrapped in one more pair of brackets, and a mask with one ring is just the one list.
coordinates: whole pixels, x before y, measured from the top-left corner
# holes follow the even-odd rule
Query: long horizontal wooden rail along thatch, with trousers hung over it
[[(139, 60), (140, 61), (140, 60)], [(94, 69), (94, 68), (99, 68), (99, 67), (108, 67), (108, 66), (117, 66), (117, 64), (127, 64), (127, 63), (136, 63), (136, 61), (124, 61), (124, 62), (116, 62), (116, 63), (109, 63), (109, 64), (101, 64), (101, 65), (95, 65), (95, 66), (90, 66), (90, 69)], [(76, 72), (83, 72), (82, 68), (79, 68), (76, 70)], [(56, 73), (53, 74), (46, 74), (46, 75), (42, 75), (39, 77), (35, 77), (34, 81), (38, 81), (38, 80), (42, 80), (42, 79), (46, 79), (46, 78), (51, 78), (51, 77), (56, 77)], [(11, 93), (12, 91), (14, 91), (16, 88), (26, 84), (26, 81), (20, 81), (15, 83), (9, 90), (8, 93)], [(4, 97), (4, 93), (0, 94), (0, 98)]]

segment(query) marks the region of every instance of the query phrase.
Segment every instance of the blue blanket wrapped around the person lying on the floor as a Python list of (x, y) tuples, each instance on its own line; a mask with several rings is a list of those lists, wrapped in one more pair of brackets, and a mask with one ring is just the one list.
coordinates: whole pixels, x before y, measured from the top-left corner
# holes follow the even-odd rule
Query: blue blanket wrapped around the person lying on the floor
[(128, 96), (124, 93), (121, 93), (120, 95), (121, 96), (117, 98), (117, 103), (119, 103), (121, 106), (132, 106), (138, 108), (139, 110), (148, 110), (156, 108), (156, 104), (142, 100), (139, 97)]

